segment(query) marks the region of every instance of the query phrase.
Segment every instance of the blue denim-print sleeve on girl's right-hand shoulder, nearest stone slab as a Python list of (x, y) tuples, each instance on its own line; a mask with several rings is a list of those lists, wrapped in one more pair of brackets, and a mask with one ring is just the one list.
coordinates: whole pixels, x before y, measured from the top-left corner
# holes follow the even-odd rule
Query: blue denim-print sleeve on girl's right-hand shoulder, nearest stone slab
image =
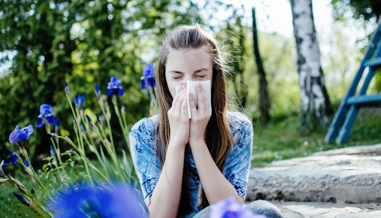
[(236, 123), (232, 130), (234, 145), (226, 160), (224, 176), (235, 187), (237, 193), (246, 197), (249, 179), (251, 152), (253, 151), (253, 124), (245, 119)]

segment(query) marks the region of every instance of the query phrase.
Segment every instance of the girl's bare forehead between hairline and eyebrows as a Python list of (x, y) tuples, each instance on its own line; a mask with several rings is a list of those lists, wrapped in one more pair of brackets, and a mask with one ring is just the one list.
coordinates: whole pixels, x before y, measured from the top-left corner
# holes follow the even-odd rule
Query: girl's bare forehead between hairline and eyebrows
[(211, 65), (212, 55), (207, 52), (205, 47), (190, 50), (171, 49), (167, 57), (165, 71), (193, 72), (200, 68), (210, 69)]

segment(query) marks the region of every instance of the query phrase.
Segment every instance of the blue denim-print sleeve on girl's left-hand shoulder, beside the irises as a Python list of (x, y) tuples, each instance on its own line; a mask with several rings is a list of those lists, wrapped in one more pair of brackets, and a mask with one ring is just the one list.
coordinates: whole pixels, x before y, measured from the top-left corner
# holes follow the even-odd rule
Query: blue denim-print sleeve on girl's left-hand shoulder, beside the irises
[(131, 157), (141, 185), (144, 202), (148, 206), (152, 192), (160, 176), (154, 140), (147, 131), (146, 123), (138, 121), (130, 131)]

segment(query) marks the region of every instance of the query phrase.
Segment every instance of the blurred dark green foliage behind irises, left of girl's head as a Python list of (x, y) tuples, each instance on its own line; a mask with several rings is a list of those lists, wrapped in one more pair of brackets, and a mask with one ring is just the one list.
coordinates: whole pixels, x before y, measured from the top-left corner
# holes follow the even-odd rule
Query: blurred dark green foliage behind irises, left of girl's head
[[(188, 10), (179, 10), (185, 6)], [(197, 6), (181, 0), (144, 4), (4, 0), (0, 8), (0, 30), (6, 30), (0, 33), (0, 51), (15, 53), (13, 58), (1, 60), (12, 59), (10, 70), (0, 75), (1, 142), (8, 141), (17, 124), (35, 126), (42, 103), (53, 106), (63, 123), (62, 131), (73, 136), (64, 79), (78, 87), (73, 95), (84, 94), (86, 107), (94, 108), (94, 84), (105, 93), (110, 76), (117, 76), (126, 91), (123, 101), (133, 111), (126, 116), (127, 123), (135, 123), (149, 110), (148, 97), (139, 89), (142, 68), (154, 60), (163, 34), (178, 24), (200, 20)], [(111, 125), (120, 148), (123, 136), (113, 117)], [(34, 134), (45, 135), (43, 132), (35, 129)], [(47, 153), (49, 145), (47, 136), (33, 137), (28, 141), (30, 156)]]

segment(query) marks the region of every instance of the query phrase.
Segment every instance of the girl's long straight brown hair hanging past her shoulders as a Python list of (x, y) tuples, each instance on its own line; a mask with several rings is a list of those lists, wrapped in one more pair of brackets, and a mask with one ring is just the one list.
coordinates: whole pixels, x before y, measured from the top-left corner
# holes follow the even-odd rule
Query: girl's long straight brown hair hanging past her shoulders
[[(213, 84), (211, 87), (212, 115), (206, 127), (205, 142), (211, 157), (221, 172), (223, 172), (225, 158), (227, 157), (229, 149), (232, 149), (234, 142), (226, 116), (226, 108), (229, 105), (226, 87), (226, 68), (228, 66), (226, 60), (221, 55), (217, 40), (210, 31), (208, 32), (208, 29), (198, 23), (192, 26), (178, 26), (163, 40), (155, 71), (158, 99), (156, 140), (162, 142), (162, 145), (156, 143), (158, 149), (155, 150), (160, 152), (155, 153), (156, 157), (158, 157), (160, 170), (163, 168), (170, 140), (170, 125), (167, 113), (173, 101), (165, 79), (165, 65), (168, 53), (171, 49), (190, 50), (205, 45), (208, 47), (207, 52), (213, 57)], [(208, 205), (209, 202), (205, 192), (201, 189), (201, 203), (199, 207), (203, 209)], [(189, 193), (189, 174), (186, 158), (184, 158), (179, 213), (186, 215), (192, 212), (192, 210), (194, 210), (194, 208)]]

